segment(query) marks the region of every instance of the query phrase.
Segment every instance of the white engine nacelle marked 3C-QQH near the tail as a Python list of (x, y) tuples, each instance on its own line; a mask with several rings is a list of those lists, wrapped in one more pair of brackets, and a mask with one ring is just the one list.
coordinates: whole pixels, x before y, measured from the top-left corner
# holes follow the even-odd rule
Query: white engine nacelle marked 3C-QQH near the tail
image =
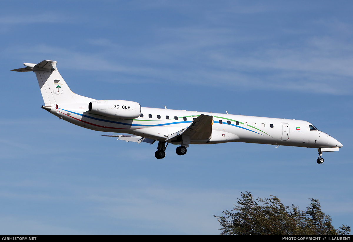
[(90, 102), (88, 109), (94, 113), (118, 119), (136, 119), (141, 114), (141, 105), (125, 100), (97, 100)]

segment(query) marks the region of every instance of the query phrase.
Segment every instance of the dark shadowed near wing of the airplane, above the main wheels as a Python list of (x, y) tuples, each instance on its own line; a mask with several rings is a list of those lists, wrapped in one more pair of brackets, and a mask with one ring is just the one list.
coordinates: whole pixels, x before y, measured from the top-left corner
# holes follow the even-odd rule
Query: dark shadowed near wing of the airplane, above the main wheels
[(175, 132), (174, 134), (170, 134), (166, 139), (166, 142), (179, 142), (181, 141), (181, 135), (183, 135), (183, 138), (186, 141), (185, 144), (190, 144), (190, 142), (187, 142), (189, 138), (194, 141), (208, 140), (212, 135), (212, 119), (213, 116), (201, 114), (187, 128)]

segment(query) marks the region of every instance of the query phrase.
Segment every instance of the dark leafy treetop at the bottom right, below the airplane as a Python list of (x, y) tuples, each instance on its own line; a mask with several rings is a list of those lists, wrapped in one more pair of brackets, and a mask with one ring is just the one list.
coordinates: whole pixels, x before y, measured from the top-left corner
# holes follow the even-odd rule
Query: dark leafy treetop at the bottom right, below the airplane
[[(331, 217), (321, 211), (319, 200), (310, 199), (306, 211), (285, 206), (276, 196), (258, 198), (241, 193), (234, 209), (215, 216), (222, 226), (221, 235), (350, 235), (351, 227), (335, 229)], [(234, 211), (234, 212), (233, 212)]]

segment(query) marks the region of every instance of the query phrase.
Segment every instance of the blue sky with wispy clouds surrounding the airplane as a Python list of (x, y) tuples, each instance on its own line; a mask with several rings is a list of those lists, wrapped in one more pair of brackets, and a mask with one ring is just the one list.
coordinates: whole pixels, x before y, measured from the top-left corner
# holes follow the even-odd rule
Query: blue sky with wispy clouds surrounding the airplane
[[(352, 226), (350, 1), (3, 1), (0, 233), (219, 234), (240, 192)], [(229, 143), (154, 157), (41, 109), (23, 62), (71, 90), (143, 107), (306, 120), (339, 152)]]

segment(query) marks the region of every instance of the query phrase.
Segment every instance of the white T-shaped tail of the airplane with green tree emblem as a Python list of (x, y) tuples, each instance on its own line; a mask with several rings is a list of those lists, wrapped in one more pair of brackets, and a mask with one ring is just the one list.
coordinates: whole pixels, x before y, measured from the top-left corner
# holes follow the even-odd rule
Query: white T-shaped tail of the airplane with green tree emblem
[(33, 71), (37, 75), (45, 106), (65, 103), (89, 103), (95, 99), (73, 93), (56, 68), (56, 61), (44, 60), (38, 64), (24, 63), (25, 68), (11, 71)]

